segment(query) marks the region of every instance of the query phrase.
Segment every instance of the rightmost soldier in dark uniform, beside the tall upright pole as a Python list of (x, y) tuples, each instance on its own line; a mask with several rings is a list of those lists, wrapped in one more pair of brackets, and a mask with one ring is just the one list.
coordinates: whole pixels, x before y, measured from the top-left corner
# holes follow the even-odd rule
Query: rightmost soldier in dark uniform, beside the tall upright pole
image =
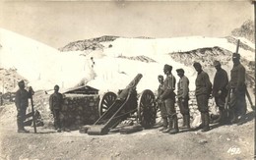
[(236, 123), (239, 116), (246, 114), (247, 106), (245, 101), (245, 68), (240, 63), (240, 55), (233, 53), (233, 68), (231, 70), (231, 79), (228, 82), (230, 94), (230, 109), (233, 111), (234, 117), (231, 123)]

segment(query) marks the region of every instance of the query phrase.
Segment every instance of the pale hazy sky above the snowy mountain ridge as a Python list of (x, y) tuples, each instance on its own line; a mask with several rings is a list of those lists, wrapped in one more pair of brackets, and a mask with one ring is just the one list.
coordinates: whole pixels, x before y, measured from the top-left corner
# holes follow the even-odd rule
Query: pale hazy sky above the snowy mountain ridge
[(4, 1), (0, 27), (54, 48), (101, 35), (223, 37), (253, 20), (250, 1)]

